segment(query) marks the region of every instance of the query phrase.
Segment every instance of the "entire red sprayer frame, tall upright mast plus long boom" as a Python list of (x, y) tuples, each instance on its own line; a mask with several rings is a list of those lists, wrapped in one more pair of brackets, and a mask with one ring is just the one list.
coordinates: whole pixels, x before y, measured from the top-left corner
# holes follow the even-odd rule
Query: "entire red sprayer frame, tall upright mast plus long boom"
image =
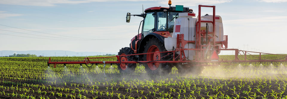
[[(204, 21), (201, 20), (201, 7), (212, 7), (213, 8), (213, 21)], [(213, 31), (201, 31), (201, 23), (211, 23), (213, 25)], [(206, 36), (206, 34), (209, 34)], [(207, 37), (207, 38), (206, 38)], [(99, 57), (99, 58), (117, 58), (117, 61), (90, 61), (90, 59), (94, 58), (85, 58), (85, 60), (81, 62), (52, 62), (51, 58), (49, 58), (48, 65), (54, 65), (54, 68), (56, 68), (57, 64), (123, 64), (123, 63), (183, 63), (184, 66), (218, 66), (222, 65), (221, 63), (233, 63), (233, 62), (287, 62), (287, 55), (280, 55), (285, 56), (279, 60), (262, 60), (261, 55), (262, 54), (269, 54), (269, 53), (262, 53), (262, 52), (253, 52), (258, 53), (259, 57), (255, 55), (251, 55), (251, 51), (243, 51), (239, 49), (227, 49), (228, 45), (228, 36), (224, 36), (223, 41), (215, 41), (215, 6), (205, 6), (205, 5), (199, 5), (199, 15), (198, 15), (198, 22), (196, 23), (196, 41), (186, 41), (183, 39), (183, 34), (177, 35), (177, 47), (174, 51), (166, 51), (168, 55), (172, 54), (173, 58), (172, 60), (165, 61), (161, 60), (161, 58), (158, 58), (157, 61), (138, 61), (138, 60), (132, 60), (132, 61), (121, 61), (120, 59), (122, 57), (126, 57), (129, 55), (116, 55), (113, 57)], [(201, 40), (201, 38), (207, 39), (208, 41)], [(213, 39), (211, 41), (211, 39)], [(201, 44), (201, 41), (203, 44)], [(196, 48), (184, 48), (184, 45), (187, 43), (194, 43), (196, 44)], [(205, 45), (204, 45), (205, 44)], [(221, 48), (215, 44), (221, 44)], [(223, 47), (224, 45), (224, 47)], [(185, 57), (185, 50), (194, 50), (196, 55), (194, 56), (194, 60), (187, 60)], [(235, 51), (234, 60), (224, 60), (219, 59), (217, 52), (222, 50), (229, 50), (229, 51)], [(179, 52), (179, 55), (176, 53)], [(207, 55), (207, 52), (211, 55)], [(242, 54), (241, 54), (242, 52)], [(151, 52), (151, 53), (142, 53), (142, 54), (133, 54), (133, 55), (144, 55), (144, 54), (152, 54), (152, 53), (162, 53), (162, 52)], [(252, 57), (256, 58), (255, 60), (249, 60), (247, 58), (247, 54), (251, 55)], [(214, 56), (215, 55), (215, 56)], [(270, 55), (279, 55), (279, 54), (270, 54)], [(240, 60), (238, 56), (241, 56), (244, 58), (244, 60)], [(163, 56), (165, 57), (165, 56)], [(210, 57), (210, 58), (208, 58)], [(284, 59), (285, 60), (282, 60)], [(225, 64), (226, 65), (226, 64)], [(227, 64), (230, 65), (230, 64)]]

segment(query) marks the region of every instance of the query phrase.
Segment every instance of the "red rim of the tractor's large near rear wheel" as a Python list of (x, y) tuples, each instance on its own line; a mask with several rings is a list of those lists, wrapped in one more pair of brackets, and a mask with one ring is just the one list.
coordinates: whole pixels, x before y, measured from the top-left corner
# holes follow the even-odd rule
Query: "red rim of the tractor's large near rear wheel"
[[(155, 45), (152, 45), (149, 47), (148, 51), (149, 52), (160, 52), (158, 47)], [(154, 61), (154, 60), (160, 60), (161, 54), (160, 53), (151, 53), (146, 55), (146, 61)], [(151, 70), (156, 70), (159, 66), (159, 63), (147, 63), (149, 68)]]

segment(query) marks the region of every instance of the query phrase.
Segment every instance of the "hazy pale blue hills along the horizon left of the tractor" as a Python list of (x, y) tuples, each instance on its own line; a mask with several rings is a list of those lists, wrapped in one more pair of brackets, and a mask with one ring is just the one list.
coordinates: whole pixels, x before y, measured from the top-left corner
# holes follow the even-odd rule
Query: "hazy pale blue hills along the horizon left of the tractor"
[(11, 51), (11, 50), (2, 50), (0, 55), (9, 56), (16, 54), (35, 54), (37, 56), (95, 56), (95, 55), (106, 55), (106, 54), (116, 54), (117, 52), (73, 52), (73, 51), (64, 51), (64, 50), (28, 50), (28, 51)]

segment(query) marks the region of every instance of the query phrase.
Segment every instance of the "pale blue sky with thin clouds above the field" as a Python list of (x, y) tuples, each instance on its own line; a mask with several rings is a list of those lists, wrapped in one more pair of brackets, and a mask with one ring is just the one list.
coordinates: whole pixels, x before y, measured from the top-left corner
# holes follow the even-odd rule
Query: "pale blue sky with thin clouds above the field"
[[(287, 0), (172, 0), (198, 14), (215, 5), (228, 48), (285, 53)], [(141, 14), (168, 0), (0, 0), (0, 50), (118, 52), (138, 34)], [(211, 8), (202, 14), (212, 15)], [(232, 54), (222, 52), (221, 54)]]

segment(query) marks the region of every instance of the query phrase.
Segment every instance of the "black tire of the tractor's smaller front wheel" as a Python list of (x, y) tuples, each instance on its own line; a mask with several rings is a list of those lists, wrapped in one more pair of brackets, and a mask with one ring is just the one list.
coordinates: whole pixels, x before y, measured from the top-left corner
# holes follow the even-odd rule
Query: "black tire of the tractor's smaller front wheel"
[[(129, 56), (126, 56), (127, 61), (138, 60), (135, 55), (131, 55), (135, 53), (130, 47), (125, 47), (125, 48), (120, 49), (120, 52), (118, 52), (118, 55), (122, 55), (122, 54), (129, 55)], [(120, 58), (123, 59), (124, 57), (120, 57)], [(119, 69), (120, 73), (134, 73), (137, 64), (125, 64), (125, 65), (127, 66), (126, 69), (123, 69), (123, 67), (121, 67), (120, 64), (117, 65), (117, 68)]]

